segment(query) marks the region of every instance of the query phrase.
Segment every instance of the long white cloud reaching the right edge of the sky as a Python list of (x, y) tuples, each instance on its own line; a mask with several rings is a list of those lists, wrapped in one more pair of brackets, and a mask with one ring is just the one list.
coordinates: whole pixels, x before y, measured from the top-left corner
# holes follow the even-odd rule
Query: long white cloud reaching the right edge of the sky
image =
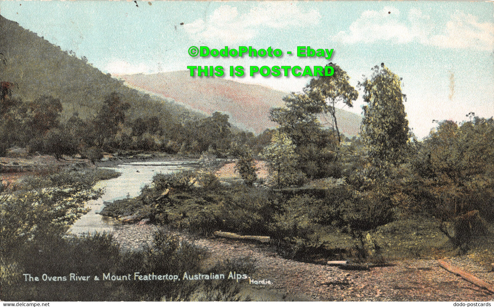
[(397, 9), (384, 7), (381, 11), (363, 12), (350, 25), (349, 31), (340, 31), (333, 39), (343, 43), (373, 43), (383, 40), (407, 43), (416, 40), (424, 45), (442, 48), (493, 50), (494, 24), (479, 23), (478, 18), (473, 15), (456, 12), (446, 25), (438, 25), (419, 9), (412, 8), (408, 12), (408, 18), (403, 19)]

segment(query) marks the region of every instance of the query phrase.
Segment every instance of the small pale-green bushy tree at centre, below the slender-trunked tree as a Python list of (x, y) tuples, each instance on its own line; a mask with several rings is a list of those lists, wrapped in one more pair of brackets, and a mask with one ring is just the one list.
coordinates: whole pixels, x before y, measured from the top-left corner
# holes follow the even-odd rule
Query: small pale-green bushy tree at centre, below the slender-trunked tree
[(304, 176), (296, 171), (296, 146), (287, 134), (273, 133), (271, 143), (264, 147), (261, 156), (267, 160), (271, 180), (277, 186), (290, 186), (303, 183)]

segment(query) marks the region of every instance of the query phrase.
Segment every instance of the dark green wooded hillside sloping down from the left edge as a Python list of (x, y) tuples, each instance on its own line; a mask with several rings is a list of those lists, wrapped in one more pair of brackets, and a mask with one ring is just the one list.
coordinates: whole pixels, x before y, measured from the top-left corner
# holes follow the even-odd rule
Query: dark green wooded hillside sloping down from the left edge
[(13, 96), (33, 101), (41, 95), (60, 99), (63, 116), (79, 112), (94, 115), (108, 94), (116, 91), (131, 104), (131, 117), (158, 113), (164, 108), (182, 113), (182, 105), (150, 97), (128, 88), (87, 63), (85, 57), (61, 50), (59, 46), (0, 16), (0, 81), (14, 84)]

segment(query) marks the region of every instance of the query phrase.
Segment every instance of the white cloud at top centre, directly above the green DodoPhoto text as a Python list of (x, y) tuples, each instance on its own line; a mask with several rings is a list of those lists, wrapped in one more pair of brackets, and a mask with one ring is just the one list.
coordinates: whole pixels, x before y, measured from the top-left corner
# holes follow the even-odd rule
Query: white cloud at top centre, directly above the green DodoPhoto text
[(315, 26), (320, 18), (317, 10), (303, 11), (296, 2), (261, 2), (241, 15), (237, 7), (220, 6), (206, 20), (197, 19), (184, 25), (184, 28), (194, 37), (231, 43), (255, 37), (261, 27), (311, 27)]

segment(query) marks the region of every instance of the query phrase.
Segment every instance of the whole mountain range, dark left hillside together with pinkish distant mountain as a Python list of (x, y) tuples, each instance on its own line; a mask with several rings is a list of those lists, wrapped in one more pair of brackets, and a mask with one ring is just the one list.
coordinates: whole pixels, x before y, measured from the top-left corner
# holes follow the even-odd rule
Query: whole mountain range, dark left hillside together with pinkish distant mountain
[[(118, 92), (131, 104), (130, 118), (169, 112), (178, 120), (186, 109), (189, 116), (203, 117), (215, 111), (226, 113), (240, 128), (261, 133), (276, 124), (268, 118), (271, 107), (283, 106), (288, 93), (258, 84), (217, 77), (190, 77), (188, 71), (158, 74), (105, 74), (74, 53), (63, 51), (43, 37), (0, 16), (0, 82), (13, 83), (13, 96), (33, 101), (42, 95), (60, 99), (67, 119), (73, 112), (90, 118), (105, 96)], [(177, 103), (178, 102), (178, 103)], [(199, 111), (199, 112), (195, 112)], [(361, 116), (337, 110), (338, 126), (346, 136), (359, 133)], [(236, 127), (233, 130), (238, 131)]]

